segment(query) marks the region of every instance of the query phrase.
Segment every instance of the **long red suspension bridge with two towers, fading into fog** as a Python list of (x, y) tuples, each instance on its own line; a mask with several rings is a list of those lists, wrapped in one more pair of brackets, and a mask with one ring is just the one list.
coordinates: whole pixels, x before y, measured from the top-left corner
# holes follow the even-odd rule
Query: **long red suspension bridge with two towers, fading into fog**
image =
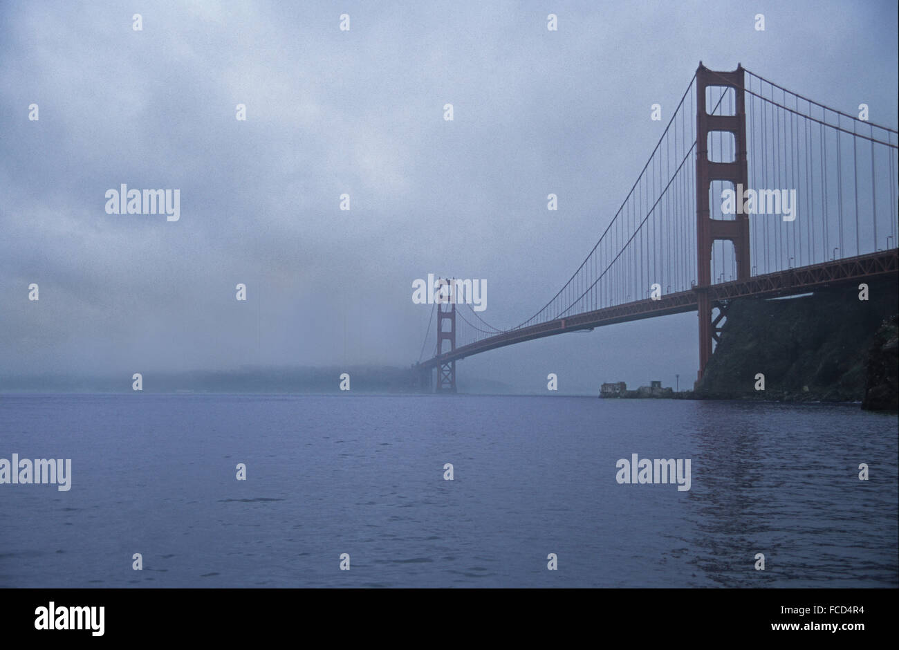
[[(465, 302), (435, 302), (414, 364), (423, 387), (436, 370), (434, 388), (455, 392), (456, 361), (473, 354), (689, 311), (701, 378), (729, 300), (896, 278), (897, 135), (742, 66), (700, 62), (618, 212), (543, 307), (501, 328)], [(781, 197), (795, 198), (789, 218), (770, 213)]]

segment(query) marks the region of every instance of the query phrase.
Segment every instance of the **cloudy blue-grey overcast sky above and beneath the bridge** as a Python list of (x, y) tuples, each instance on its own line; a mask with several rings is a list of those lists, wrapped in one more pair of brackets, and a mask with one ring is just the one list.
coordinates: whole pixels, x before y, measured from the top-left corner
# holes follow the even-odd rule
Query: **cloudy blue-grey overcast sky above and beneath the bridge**
[[(700, 59), (895, 128), (896, 22), (895, 0), (4, 2), (0, 373), (408, 366), (429, 272), (486, 280), (482, 316), (517, 325), (589, 253)], [(107, 214), (121, 183), (179, 189), (181, 218)], [(696, 321), (487, 352), (459, 383), (684, 387)]]

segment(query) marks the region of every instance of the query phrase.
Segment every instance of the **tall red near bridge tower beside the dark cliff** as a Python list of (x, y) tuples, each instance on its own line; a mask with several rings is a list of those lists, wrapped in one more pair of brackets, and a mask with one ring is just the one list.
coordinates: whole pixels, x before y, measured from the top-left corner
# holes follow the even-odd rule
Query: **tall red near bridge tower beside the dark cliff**
[[(696, 256), (697, 303), (699, 307), (699, 373), (698, 379), (706, 370), (708, 360), (712, 356), (712, 340), (717, 340), (718, 323), (722, 313), (712, 321), (712, 308), (723, 306), (712, 305), (708, 298), (708, 287), (712, 283), (711, 263), (712, 245), (717, 240), (728, 240), (734, 244), (737, 280), (749, 280), (751, 263), (749, 259), (749, 216), (735, 214), (733, 220), (715, 219), (709, 211), (709, 190), (713, 181), (730, 181), (734, 183), (734, 192), (740, 185), (748, 187), (746, 169), (746, 110), (743, 94), (743, 66), (737, 64), (733, 72), (714, 72), (699, 62), (696, 71)], [(736, 96), (734, 115), (709, 115), (706, 103), (706, 88), (720, 86), (733, 88)], [(708, 134), (716, 131), (731, 133), (734, 136), (734, 160), (732, 162), (713, 163), (708, 159)], [(737, 202), (742, 204), (739, 194)]]

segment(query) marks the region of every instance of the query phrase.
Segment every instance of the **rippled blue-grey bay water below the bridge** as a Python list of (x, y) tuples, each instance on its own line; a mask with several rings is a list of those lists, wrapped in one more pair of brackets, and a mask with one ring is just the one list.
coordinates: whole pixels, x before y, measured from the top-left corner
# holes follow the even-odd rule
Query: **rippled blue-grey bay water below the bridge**
[[(4, 587), (899, 583), (897, 418), (858, 406), (5, 395), (13, 452), (72, 487), (0, 485)], [(690, 491), (619, 485), (632, 453)]]

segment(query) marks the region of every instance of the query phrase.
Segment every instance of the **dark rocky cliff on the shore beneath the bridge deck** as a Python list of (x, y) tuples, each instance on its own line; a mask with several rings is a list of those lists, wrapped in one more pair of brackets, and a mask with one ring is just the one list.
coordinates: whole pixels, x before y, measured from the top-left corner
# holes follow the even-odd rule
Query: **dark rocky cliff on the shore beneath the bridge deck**
[[(694, 396), (854, 402), (867, 390), (866, 405), (895, 408), (895, 325), (892, 338), (880, 328), (897, 312), (895, 281), (868, 282), (868, 300), (859, 300), (858, 284), (736, 299)], [(755, 389), (760, 373), (764, 390)]]

